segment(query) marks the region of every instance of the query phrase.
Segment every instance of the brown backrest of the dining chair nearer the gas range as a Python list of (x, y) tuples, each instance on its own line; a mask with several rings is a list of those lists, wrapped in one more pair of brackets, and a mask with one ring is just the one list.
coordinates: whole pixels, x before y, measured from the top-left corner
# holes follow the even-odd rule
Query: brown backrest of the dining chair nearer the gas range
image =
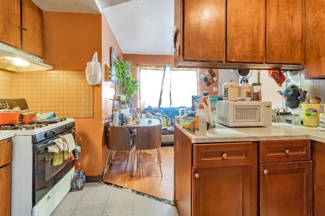
[(106, 125), (106, 136), (106, 147), (109, 150), (131, 150), (133, 145), (132, 137), (126, 127)]

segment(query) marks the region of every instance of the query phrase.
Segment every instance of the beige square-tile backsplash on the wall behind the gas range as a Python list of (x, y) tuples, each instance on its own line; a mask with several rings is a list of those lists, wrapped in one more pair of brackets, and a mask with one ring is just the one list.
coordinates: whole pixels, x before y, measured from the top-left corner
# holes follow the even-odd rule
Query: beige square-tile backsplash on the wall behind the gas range
[(7, 72), (0, 70), (0, 98), (25, 98), (35, 112), (92, 118), (93, 85), (84, 70)]

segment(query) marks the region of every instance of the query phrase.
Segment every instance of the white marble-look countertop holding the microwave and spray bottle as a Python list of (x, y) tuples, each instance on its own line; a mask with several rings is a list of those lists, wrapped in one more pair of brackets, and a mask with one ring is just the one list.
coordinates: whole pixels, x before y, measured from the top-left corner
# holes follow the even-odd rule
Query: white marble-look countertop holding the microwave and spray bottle
[(310, 139), (325, 143), (325, 131), (317, 127), (293, 126), (288, 123), (272, 122), (268, 127), (228, 127), (216, 124), (210, 128), (207, 136), (196, 136), (189, 129), (182, 131), (191, 139), (192, 143), (220, 143), (220, 142), (248, 142), (274, 140)]

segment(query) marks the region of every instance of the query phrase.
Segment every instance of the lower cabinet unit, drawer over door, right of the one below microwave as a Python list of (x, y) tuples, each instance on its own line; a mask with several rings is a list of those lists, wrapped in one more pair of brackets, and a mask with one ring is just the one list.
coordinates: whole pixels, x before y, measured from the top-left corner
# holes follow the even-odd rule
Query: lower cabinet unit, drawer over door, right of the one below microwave
[(312, 215), (310, 140), (259, 142), (259, 215)]

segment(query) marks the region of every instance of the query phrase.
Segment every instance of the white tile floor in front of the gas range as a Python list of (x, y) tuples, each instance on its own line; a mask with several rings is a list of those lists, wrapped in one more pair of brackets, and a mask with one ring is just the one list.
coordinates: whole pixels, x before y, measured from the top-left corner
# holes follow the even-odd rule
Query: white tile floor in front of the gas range
[(86, 183), (82, 191), (70, 191), (52, 216), (178, 216), (175, 205), (156, 201), (104, 183)]

